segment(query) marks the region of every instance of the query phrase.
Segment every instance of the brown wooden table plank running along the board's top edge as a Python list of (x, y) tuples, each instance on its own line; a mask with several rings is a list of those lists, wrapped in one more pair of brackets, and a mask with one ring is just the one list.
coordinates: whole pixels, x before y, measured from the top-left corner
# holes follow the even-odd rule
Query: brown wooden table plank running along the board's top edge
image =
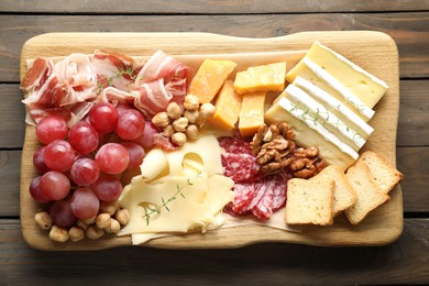
[[(403, 78), (429, 76), (429, 12), (251, 15), (0, 15), (0, 81), (18, 81), (22, 44), (47, 32), (211, 32), (272, 37), (302, 31), (377, 30), (393, 36)], [(86, 24), (82, 24), (86, 23)], [(172, 24), (174, 23), (174, 24)], [(132, 40), (130, 40), (132, 41)]]

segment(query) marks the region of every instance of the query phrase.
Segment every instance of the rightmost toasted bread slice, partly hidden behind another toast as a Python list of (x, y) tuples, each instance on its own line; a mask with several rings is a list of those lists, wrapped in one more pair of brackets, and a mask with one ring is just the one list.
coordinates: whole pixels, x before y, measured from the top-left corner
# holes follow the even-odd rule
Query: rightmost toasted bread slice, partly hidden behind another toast
[(383, 190), (384, 194), (388, 194), (402, 179), (404, 179), (404, 175), (399, 170), (394, 168), (384, 157), (375, 152), (366, 151), (362, 153), (358, 162), (363, 162), (367, 165), (375, 185)]

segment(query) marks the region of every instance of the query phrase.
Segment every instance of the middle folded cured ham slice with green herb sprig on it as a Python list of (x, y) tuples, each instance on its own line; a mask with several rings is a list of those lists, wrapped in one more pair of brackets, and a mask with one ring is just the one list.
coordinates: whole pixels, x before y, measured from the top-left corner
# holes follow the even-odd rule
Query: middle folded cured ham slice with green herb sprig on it
[(110, 51), (95, 51), (92, 66), (102, 88), (114, 87), (122, 91), (133, 89), (139, 69), (133, 58)]

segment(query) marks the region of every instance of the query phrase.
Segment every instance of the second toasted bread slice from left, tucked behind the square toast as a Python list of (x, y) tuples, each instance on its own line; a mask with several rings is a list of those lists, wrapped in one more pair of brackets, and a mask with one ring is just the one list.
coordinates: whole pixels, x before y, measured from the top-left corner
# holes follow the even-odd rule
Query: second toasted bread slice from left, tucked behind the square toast
[(336, 182), (332, 210), (334, 217), (356, 202), (356, 193), (345, 178), (345, 174), (341, 166), (330, 165), (323, 168), (317, 176), (327, 177)]

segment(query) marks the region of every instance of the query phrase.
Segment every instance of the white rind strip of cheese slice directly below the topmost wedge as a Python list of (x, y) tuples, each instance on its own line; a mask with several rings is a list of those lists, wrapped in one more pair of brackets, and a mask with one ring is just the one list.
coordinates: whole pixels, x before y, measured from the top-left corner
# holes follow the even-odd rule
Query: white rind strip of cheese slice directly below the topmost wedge
[(311, 59), (304, 57), (302, 63), (310, 68), (320, 79), (323, 79), (330, 87), (336, 89), (345, 101), (350, 102), (356, 108), (362, 116), (370, 120), (375, 111), (369, 108), (359, 97), (351, 92), (340, 80), (329, 74), (321, 66), (312, 62)]

